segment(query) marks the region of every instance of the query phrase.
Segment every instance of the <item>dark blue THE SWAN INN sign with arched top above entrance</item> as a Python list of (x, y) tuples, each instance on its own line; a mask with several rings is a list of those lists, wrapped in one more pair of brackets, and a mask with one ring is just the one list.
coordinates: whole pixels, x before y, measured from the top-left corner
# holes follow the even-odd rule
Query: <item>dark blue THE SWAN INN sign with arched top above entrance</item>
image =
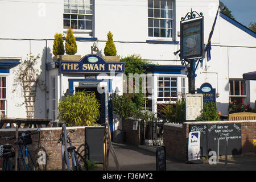
[(60, 61), (61, 73), (123, 73), (125, 63), (106, 62), (101, 56), (86, 55), (79, 61)]

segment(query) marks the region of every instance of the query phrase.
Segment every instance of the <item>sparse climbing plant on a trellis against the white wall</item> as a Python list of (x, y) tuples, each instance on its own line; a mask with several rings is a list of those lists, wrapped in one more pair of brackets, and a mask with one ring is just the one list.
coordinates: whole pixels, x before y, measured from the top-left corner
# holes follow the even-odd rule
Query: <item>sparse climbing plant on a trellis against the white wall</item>
[(17, 88), (18, 85), (22, 86), (23, 104), (26, 105), (27, 118), (34, 118), (36, 88), (40, 74), (36, 64), (40, 56), (39, 54), (34, 56), (31, 53), (27, 56), (27, 59), (23, 60), (15, 71), (14, 88)]

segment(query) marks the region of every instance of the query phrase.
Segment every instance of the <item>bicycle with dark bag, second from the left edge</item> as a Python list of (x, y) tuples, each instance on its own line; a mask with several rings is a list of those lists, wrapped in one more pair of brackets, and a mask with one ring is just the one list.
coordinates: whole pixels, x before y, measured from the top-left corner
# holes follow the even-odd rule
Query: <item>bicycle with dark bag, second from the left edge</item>
[[(40, 131), (38, 128), (37, 131)], [(31, 133), (31, 131), (25, 131), (24, 133), (19, 134), (15, 144), (19, 145), (19, 156), (18, 156), (18, 169), (19, 171), (35, 171), (35, 162), (32, 158), (30, 150), (27, 148), (28, 144), (32, 143), (31, 135), (38, 134)], [(24, 148), (24, 152), (23, 152)]]

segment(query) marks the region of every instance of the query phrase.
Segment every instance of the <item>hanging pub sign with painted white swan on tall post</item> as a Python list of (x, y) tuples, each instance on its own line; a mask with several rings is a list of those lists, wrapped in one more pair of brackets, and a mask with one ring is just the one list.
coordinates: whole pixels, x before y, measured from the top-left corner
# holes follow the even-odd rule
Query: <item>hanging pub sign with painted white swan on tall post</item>
[(204, 17), (180, 22), (180, 57), (195, 59), (203, 57)]

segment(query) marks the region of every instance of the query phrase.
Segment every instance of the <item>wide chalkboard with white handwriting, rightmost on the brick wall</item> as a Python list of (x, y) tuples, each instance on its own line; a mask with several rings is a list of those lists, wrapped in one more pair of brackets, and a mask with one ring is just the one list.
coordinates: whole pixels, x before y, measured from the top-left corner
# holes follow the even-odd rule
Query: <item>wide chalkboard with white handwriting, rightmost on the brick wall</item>
[[(218, 134), (228, 137), (228, 155), (242, 154), (241, 123), (213, 124), (207, 126), (207, 148), (209, 151), (218, 150)], [(220, 155), (225, 155), (226, 139), (220, 137)]]

